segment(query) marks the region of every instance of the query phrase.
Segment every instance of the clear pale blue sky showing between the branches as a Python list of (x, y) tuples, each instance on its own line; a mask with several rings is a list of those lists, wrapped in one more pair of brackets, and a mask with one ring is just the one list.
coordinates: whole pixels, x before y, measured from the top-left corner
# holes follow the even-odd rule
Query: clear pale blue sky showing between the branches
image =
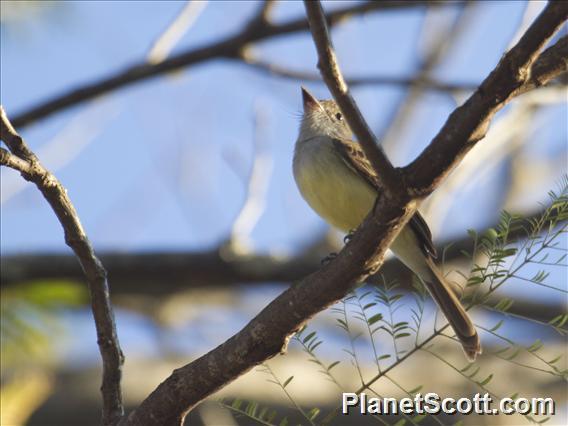
[[(533, 13), (543, 4), (533, 2)], [(1, 5), (5, 17), (11, 3)], [(339, 6), (340, 2), (326, 4)], [(180, 2), (58, 2), (4, 21), (2, 105), (13, 116), (144, 60), (152, 42), (182, 7)], [(237, 31), (257, 7), (255, 2), (210, 2), (174, 53)], [(509, 45), (525, 7), (511, 1), (476, 4), (458, 48), (434, 75), (448, 82), (480, 82)], [(303, 13), (300, 2), (279, 2), (275, 20)], [(455, 9), (448, 9), (428, 19), (444, 25), (454, 14)], [(411, 75), (418, 64), (416, 49), (427, 41), (419, 37), (423, 21), (424, 11), (416, 9), (374, 13), (338, 26), (333, 39), (345, 74)], [(263, 42), (255, 52), (270, 62), (317, 72), (308, 33)], [(269, 153), (272, 173), (266, 210), (251, 237), (259, 251), (294, 252), (327, 229), (301, 199), (291, 172), (300, 84), (238, 62), (212, 61), (57, 113), (21, 134), (67, 187), (96, 250), (200, 250), (227, 237), (242, 205), (243, 177), (254, 156), (256, 111), (263, 121), (258, 137)], [(319, 97), (329, 96), (322, 84), (306, 85)], [(389, 86), (361, 87), (353, 93), (378, 134), (403, 94)], [(404, 129), (400, 143), (405, 149), (389, 152), (395, 163), (402, 165), (417, 155), (455, 106), (456, 99), (429, 92), (419, 102), (412, 125)], [(535, 161), (562, 158), (566, 103), (552, 104), (537, 117), (531, 140), (523, 148), (526, 156)], [(546, 201), (546, 192), (566, 173), (565, 163), (552, 164), (558, 169), (546, 171), (545, 184), (522, 194), (525, 207)], [(510, 167), (504, 163), (479, 171), (474, 184), (447, 200), (446, 220), (435, 236), (464, 235), (468, 228), (492, 223), (502, 205), (502, 186)], [(1, 178), (2, 254), (68, 252), (60, 226), (38, 191), (22, 184), (11, 170), (2, 168)], [(267, 290), (270, 294), (259, 307), (274, 296), (273, 290)], [(119, 327), (130, 331), (125, 333), (126, 341), (140, 344), (134, 330), (146, 324), (121, 315)], [(90, 316), (85, 321), (92, 327)]]

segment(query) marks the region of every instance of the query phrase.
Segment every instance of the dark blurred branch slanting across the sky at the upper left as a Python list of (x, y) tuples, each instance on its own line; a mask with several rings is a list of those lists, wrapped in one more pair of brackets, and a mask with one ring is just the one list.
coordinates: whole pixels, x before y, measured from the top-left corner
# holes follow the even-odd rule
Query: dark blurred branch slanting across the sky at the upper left
[[(338, 8), (337, 10), (326, 14), (326, 19), (329, 24), (333, 26), (351, 16), (371, 11), (442, 6), (444, 3), (445, 2), (438, 0), (411, 0), (404, 2), (398, 0), (381, 2), (368, 1), (355, 6), (350, 5)], [(159, 63), (150, 64), (144, 60), (124, 70), (117, 71), (107, 77), (80, 85), (72, 90), (56, 95), (51, 99), (16, 114), (12, 119), (12, 123), (15, 127), (26, 126), (41, 118), (48, 117), (55, 112), (130, 84), (212, 59), (238, 58), (240, 56), (240, 52), (253, 42), (267, 40), (308, 29), (308, 22), (304, 17), (293, 19), (282, 24), (271, 24), (267, 19), (262, 19), (262, 17), (268, 18), (267, 12), (270, 12), (271, 6), (272, 2), (263, 5), (259, 14), (255, 16), (248, 25), (245, 25), (244, 29), (237, 34), (222, 38), (219, 41), (203, 47), (171, 56)], [(259, 17), (261, 19), (258, 19)]]

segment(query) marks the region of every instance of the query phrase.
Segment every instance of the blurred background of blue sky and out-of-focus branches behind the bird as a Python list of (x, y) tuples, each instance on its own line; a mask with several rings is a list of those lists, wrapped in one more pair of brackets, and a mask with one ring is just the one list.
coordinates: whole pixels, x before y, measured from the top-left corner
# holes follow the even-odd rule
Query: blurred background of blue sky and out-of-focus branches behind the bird
[[(545, 5), (380, 3), (334, 1), (324, 8), (344, 18), (334, 21), (332, 31), (339, 63), (397, 166), (427, 146)], [(247, 26), (254, 31), (261, 11), (277, 29), (273, 35), (258, 37), (232, 56), (215, 47)], [(133, 65), (159, 64), (210, 47), (204, 59), (175, 71), (16, 124), (67, 188), (109, 271), (126, 355), (127, 408), (174, 368), (240, 330), (343, 245), (343, 235), (302, 200), (291, 172), (300, 85), (329, 97), (309, 32), (294, 27), (303, 17), (301, 2), (284, 1), (1, 2), (1, 103), (15, 124), (46, 100)], [(278, 32), (282, 28), (289, 30)], [(564, 35), (566, 28), (556, 39)], [(568, 149), (565, 84), (555, 81), (508, 105), (485, 140), (423, 204), (437, 246), (453, 247), (444, 270), (456, 281), (463, 282), (459, 272), (468, 275), (471, 266), (459, 251), (471, 250), (468, 229), (495, 227), (504, 209), (537, 217), (550, 202), (548, 191), (562, 186)], [(1, 203), (2, 425), (98, 424), (100, 356), (78, 264), (40, 193), (6, 168)], [(550, 265), (544, 260), (526, 265), (524, 280), (519, 274), (499, 289), (507, 299), (492, 299), (488, 309), (473, 311), (476, 323), (489, 330), (481, 332), (485, 353), (477, 376), (467, 376), (473, 370), (460, 372), (467, 364), (459, 346), (440, 337), (432, 349), (439, 356), (418, 351), (378, 381), (374, 392), (401, 397), (422, 385), (422, 392), (455, 397), (484, 388), (496, 396), (550, 396), (558, 405), (548, 424), (566, 424), (564, 317), (548, 324), (566, 313), (565, 233), (557, 243)], [(545, 279), (531, 279), (543, 268)], [(407, 303), (396, 315), (410, 321), (414, 301), (404, 288), (412, 276), (392, 259), (383, 272), (385, 281), (401, 283), (396, 291)], [(402, 339), (403, 349), (393, 348), (388, 336), (373, 341), (365, 334), (357, 306), (371, 297), (369, 288), (308, 326), (323, 341), (317, 359), (325, 365), (340, 361), (333, 368), (339, 384), (309, 362), (313, 353), (306, 352), (302, 339), (294, 340), (288, 354), (239, 378), (195, 409), (189, 422), (259, 424), (231, 406), (235, 398), (275, 409), (278, 419), (287, 417), (290, 424), (310, 423), (302, 410), (333, 411), (341, 390), (354, 392), (361, 379), (376, 374), (374, 349), (388, 366), (389, 357), (411, 347)], [(508, 299), (514, 301), (508, 309), (497, 305)], [(387, 315), (383, 308), (373, 307)], [(497, 312), (503, 310), (508, 313)], [(425, 312), (424, 327), (431, 328), (429, 299)], [(350, 319), (350, 333), (337, 326), (338, 315)], [(498, 337), (490, 330), (500, 321)], [(537, 340), (543, 347), (530, 351)], [(503, 345), (526, 353), (507, 359), (512, 352), (499, 353)], [(554, 360), (558, 354), (563, 356)], [(491, 382), (484, 383), (489, 375)], [(286, 386), (272, 383), (291, 376)], [(349, 421), (376, 423), (362, 416)], [(462, 421), (527, 423), (522, 416)]]

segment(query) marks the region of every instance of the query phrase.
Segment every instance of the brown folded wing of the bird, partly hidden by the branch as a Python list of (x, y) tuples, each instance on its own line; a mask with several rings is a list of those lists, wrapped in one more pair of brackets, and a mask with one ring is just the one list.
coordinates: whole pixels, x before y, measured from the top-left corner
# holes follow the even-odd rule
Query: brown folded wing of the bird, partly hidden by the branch
[[(361, 146), (356, 142), (338, 138), (333, 139), (333, 145), (341, 155), (345, 164), (378, 191), (378, 176), (361, 149)], [(410, 229), (414, 231), (424, 254), (428, 257), (436, 258), (437, 253), (434, 243), (432, 242), (432, 233), (420, 212), (417, 211), (414, 216), (412, 216), (409, 225)]]

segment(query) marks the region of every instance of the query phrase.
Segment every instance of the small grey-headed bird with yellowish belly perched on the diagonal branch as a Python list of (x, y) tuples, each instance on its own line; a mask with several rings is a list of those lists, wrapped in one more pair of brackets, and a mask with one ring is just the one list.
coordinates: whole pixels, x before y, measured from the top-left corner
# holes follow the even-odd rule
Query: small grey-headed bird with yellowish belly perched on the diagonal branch
[[(317, 100), (302, 87), (304, 113), (294, 149), (294, 179), (300, 193), (330, 225), (349, 232), (372, 209), (377, 175), (334, 100)], [(460, 340), (468, 360), (481, 353), (477, 331), (434, 260), (432, 234), (419, 212), (400, 231), (391, 251), (432, 295)]]

